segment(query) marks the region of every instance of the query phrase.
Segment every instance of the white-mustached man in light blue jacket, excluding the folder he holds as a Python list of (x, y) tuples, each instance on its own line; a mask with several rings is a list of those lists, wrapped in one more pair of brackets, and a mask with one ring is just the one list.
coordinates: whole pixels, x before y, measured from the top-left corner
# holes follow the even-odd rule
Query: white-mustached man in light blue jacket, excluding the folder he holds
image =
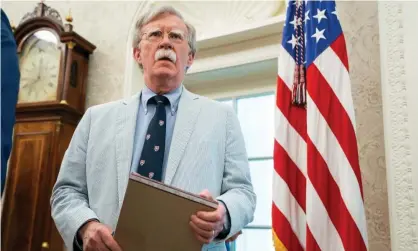
[(86, 111), (53, 189), (52, 216), (68, 248), (121, 250), (112, 231), (130, 172), (219, 202), (190, 216), (202, 250), (226, 250), (252, 221), (256, 196), (234, 111), (182, 84), (195, 44), (195, 29), (171, 7), (138, 20), (133, 56), (146, 86)]

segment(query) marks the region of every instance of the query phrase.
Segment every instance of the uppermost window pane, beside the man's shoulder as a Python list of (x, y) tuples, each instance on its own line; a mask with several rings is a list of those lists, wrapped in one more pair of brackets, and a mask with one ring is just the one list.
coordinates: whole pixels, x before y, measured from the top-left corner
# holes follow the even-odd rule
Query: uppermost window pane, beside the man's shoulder
[(237, 111), (248, 157), (272, 156), (274, 144), (274, 95), (238, 99)]

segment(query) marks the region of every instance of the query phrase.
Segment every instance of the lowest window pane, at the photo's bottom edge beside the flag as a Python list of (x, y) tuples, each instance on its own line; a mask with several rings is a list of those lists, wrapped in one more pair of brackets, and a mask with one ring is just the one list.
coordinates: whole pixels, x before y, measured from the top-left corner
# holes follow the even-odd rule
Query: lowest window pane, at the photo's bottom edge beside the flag
[(235, 246), (236, 251), (274, 251), (271, 229), (244, 229)]

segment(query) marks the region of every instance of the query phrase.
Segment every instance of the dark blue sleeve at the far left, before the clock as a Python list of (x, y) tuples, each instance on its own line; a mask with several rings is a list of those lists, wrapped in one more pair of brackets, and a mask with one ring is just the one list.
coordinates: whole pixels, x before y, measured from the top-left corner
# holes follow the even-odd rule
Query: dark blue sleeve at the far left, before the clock
[(9, 20), (1, 10), (1, 194), (12, 149), (12, 133), (19, 91), (19, 59)]

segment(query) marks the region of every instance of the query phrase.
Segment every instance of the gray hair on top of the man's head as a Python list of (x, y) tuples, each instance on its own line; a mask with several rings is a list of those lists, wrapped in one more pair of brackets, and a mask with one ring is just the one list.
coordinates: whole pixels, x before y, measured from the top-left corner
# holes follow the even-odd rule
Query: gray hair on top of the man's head
[(135, 25), (135, 36), (132, 41), (132, 47), (137, 48), (139, 43), (141, 42), (141, 29), (144, 25), (151, 22), (153, 19), (155, 19), (157, 16), (169, 13), (172, 15), (175, 15), (179, 17), (181, 20), (183, 20), (184, 24), (187, 27), (187, 42), (190, 47), (190, 52), (192, 55), (196, 54), (196, 29), (191, 25), (190, 23), (186, 22), (183, 18), (183, 16), (178, 12), (176, 9), (174, 9), (171, 6), (162, 6), (156, 9), (150, 9), (148, 10), (144, 15), (142, 15)]

